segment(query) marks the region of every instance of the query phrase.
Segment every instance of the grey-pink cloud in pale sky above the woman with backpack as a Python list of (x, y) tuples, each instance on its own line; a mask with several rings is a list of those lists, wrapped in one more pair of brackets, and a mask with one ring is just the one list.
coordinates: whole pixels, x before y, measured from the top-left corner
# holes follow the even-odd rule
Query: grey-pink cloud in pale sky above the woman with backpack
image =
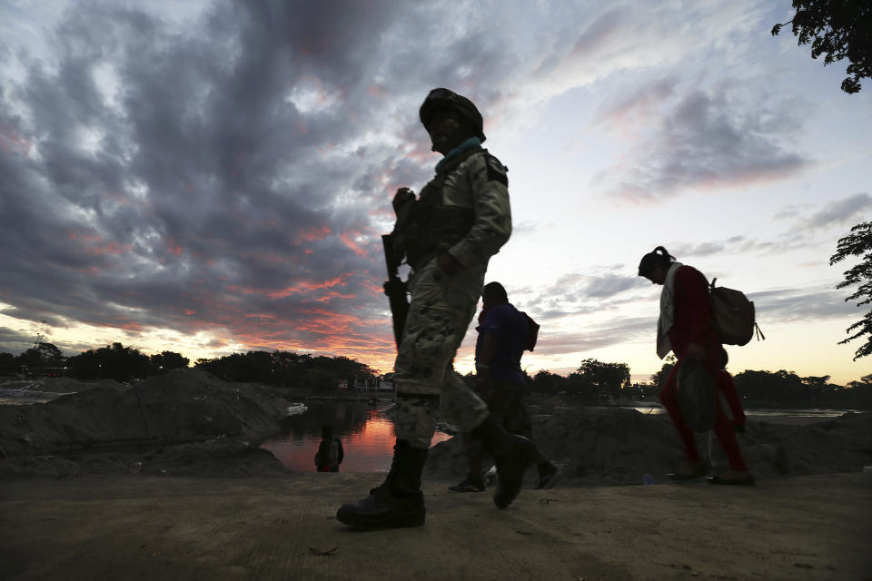
[(772, 99), (740, 94), (729, 84), (679, 91), (672, 80), (659, 81), (609, 108), (600, 119), (618, 123), (631, 113), (652, 116), (658, 103), (669, 101), (673, 93), (679, 100), (660, 105), (666, 110), (658, 110), (656, 130), (642, 139), (629, 161), (600, 174), (613, 192), (633, 200), (657, 200), (689, 188), (779, 179), (810, 163), (790, 151), (788, 140), (801, 124), (802, 105), (768, 103)]

